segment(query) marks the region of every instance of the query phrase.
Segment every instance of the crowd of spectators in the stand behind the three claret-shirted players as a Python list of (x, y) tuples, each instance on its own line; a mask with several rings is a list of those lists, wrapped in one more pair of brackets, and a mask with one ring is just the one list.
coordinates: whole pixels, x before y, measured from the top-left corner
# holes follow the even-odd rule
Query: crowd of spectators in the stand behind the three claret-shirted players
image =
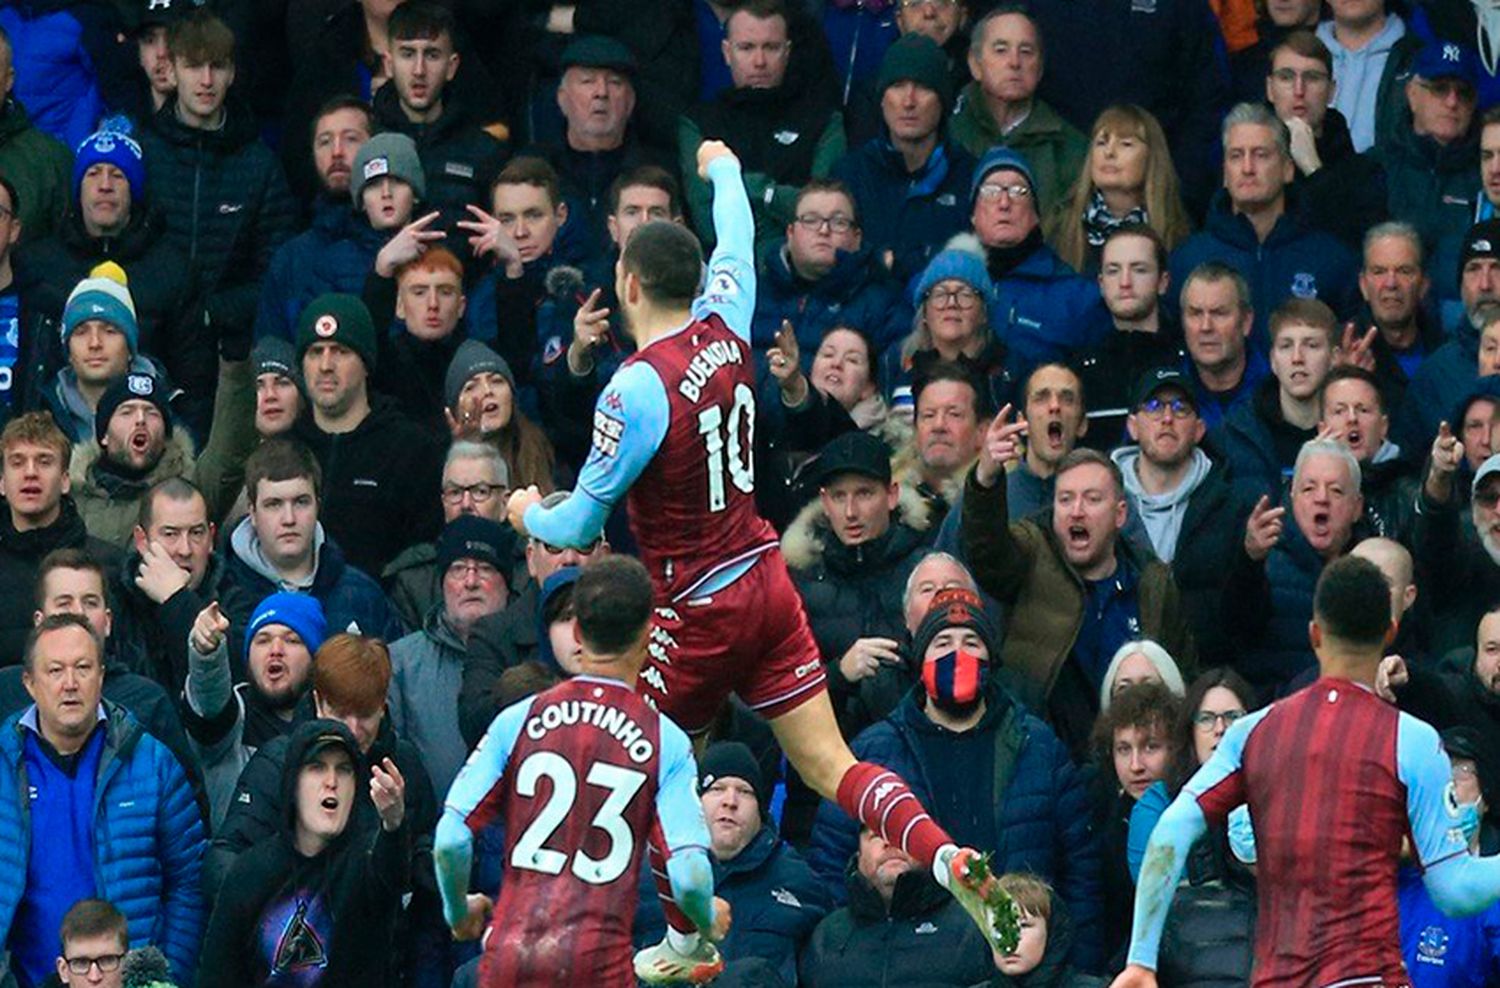
[[(507, 496), (590, 456), (632, 232), (711, 246), (705, 139), (838, 726), (1022, 921), (992, 955), (734, 705), (723, 984), (1102, 984), (1350, 553), (1496, 853), (1497, 48), (1462, 0), (0, 0), (0, 988), (476, 984), (444, 795), (633, 550)], [(1251, 826), (1194, 847), (1162, 985), (1248, 984)], [(1416, 873), (1412, 984), (1500, 982), (1500, 913)]]

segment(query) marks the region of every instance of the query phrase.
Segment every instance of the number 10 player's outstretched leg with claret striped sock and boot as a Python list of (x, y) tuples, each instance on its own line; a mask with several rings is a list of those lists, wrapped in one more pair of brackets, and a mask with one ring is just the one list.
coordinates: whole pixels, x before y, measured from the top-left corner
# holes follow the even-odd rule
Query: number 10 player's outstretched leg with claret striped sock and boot
[(825, 691), (771, 720), (771, 730), (802, 780), (825, 799), (832, 799), (850, 817), (886, 843), (932, 870), (969, 913), (992, 948), (1008, 954), (1016, 948), (1016, 904), (990, 874), (988, 859), (974, 849), (958, 847), (932, 819), (912, 787), (896, 772), (856, 762)]

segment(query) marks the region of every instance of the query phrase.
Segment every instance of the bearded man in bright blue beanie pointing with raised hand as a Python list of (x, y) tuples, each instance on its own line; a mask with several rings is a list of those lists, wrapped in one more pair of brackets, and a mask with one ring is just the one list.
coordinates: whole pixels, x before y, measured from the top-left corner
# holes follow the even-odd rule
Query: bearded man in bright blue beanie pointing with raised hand
[(236, 781), (255, 750), (306, 720), (303, 697), (312, 682), (312, 657), (328, 628), (316, 598), (272, 594), (255, 607), (244, 628), (246, 679), (234, 685), (230, 621), (218, 603), (194, 613), (194, 625), (200, 615), (224, 630), (207, 654), (198, 651), (200, 642), (184, 639), (189, 672), (183, 706), (188, 736), (202, 763), (212, 829), (218, 831)]

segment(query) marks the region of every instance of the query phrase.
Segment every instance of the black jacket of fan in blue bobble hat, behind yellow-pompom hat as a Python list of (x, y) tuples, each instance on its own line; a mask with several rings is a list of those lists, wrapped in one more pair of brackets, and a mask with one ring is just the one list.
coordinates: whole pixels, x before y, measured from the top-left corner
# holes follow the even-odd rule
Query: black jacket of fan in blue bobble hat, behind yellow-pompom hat
[[(24, 279), (27, 303), (58, 321), (68, 294), (105, 261), (124, 268), (130, 282), (141, 352), (154, 357), (166, 367), (172, 384), (188, 393), (183, 414), (194, 435), (206, 436), (219, 360), (213, 337), (202, 328), (188, 258), (170, 243), (158, 210), (147, 208), (146, 202), (132, 204), (130, 222), (117, 237), (90, 237), (78, 211), (72, 210), (56, 234), (27, 243), (15, 259), (28, 276)], [(68, 363), (68, 354), (57, 336), (48, 336), (44, 346), (38, 357), (51, 376)]]

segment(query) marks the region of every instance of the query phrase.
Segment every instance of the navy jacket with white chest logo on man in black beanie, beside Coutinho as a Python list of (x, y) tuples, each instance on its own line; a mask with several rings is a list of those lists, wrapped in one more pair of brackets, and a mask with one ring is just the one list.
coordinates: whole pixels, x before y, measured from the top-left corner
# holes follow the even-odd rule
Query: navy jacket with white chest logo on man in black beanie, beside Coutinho
[(834, 903), (820, 876), (777, 835), (772, 825), (729, 861), (714, 859), (714, 894), (735, 922), (718, 945), (726, 961), (759, 957), (788, 985), (796, 984), (796, 955)]

